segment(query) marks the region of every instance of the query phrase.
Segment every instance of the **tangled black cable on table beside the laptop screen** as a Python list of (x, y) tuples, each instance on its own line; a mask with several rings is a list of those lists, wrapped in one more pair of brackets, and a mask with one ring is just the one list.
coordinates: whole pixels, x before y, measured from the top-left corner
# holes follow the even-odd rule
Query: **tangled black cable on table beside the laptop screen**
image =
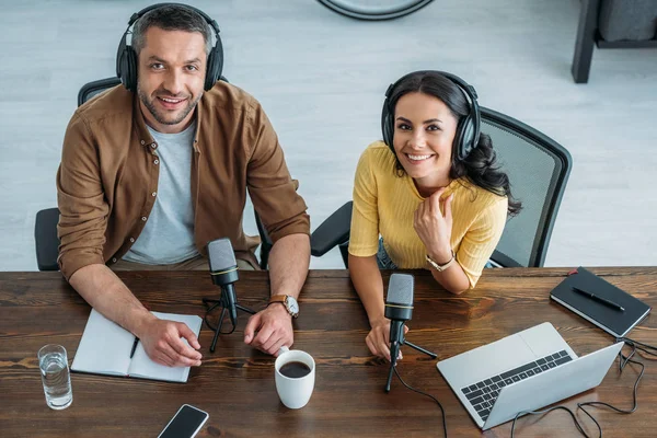
[[(581, 410), (598, 427), (598, 434), (599, 434), (598, 437), (599, 438), (602, 438), (602, 428), (600, 427), (600, 424), (596, 420), (596, 418), (593, 418), (593, 416), (587, 410), (584, 408), (584, 406), (593, 406), (593, 407), (604, 406), (604, 407), (609, 407), (621, 414), (634, 413), (638, 408), (638, 401), (637, 401), (638, 383), (641, 382), (641, 379), (643, 378), (643, 374), (645, 371), (645, 366), (639, 361), (632, 360), (632, 357), (634, 357), (636, 355), (637, 350), (641, 350), (649, 356), (657, 357), (657, 347), (654, 347), (652, 345), (644, 344), (638, 341), (631, 339), (629, 337), (619, 337), (619, 338), (616, 338), (616, 342), (623, 342), (623, 343), (625, 343), (626, 346), (632, 347), (632, 351), (630, 351), (630, 354), (627, 356), (623, 355), (622, 349), (619, 351), (619, 372), (623, 372), (623, 369), (625, 368), (625, 366), (627, 364), (635, 364), (635, 365), (641, 366), (641, 372), (638, 373), (638, 377), (636, 378), (636, 381), (634, 382), (634, 389), (633, 389), (634, 404), (631, 410), (621, 410), (621, 408), (618, 408), (618, 407), (612, 406), (611, 404), (604, 403), (604, 402), (577, 403), (577, 410)], [(650, 349), (654, 351), (650, 351)], [(521, 412), (519, 412), (518, 414), (516, 414), (516, 417), (514, 417), (514, 423), (511, 424), (511, 438), (514, 438), (514, 429), (516, 427), (516, 420), (518, 419), (518, 417), (520, 415), (523, 415), (523, 414), (542, 415), (542, 414), (548, 414), (555, 410), (564, 410), (564, 411), (568, 412), (570, 417), (573, 417), (573, 422), (575, 422), (575, 426), (577, 427), (577, 430), (579, 430), (579, 433), (581, 435), (584, 435), (585, 437), (588, 438), (588, 435), (586, 435), (586, 431), (579, 424), (579, 420), (575, 416), (575, 413), (570, 408), (568, 408), (566, 406), (562, 406), (562, 405), (553, 406), (553, 407), (550, 407), (550, 408), (543, 410), (543, 411), (521, 411)]]

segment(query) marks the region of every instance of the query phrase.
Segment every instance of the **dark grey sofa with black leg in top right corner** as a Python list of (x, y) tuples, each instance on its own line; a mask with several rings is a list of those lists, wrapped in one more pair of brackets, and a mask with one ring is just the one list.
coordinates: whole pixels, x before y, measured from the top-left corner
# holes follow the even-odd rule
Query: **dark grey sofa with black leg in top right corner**
[(573, 79), (586, 83), (598, 48), (657, 48), (657, 0), (581, 0)]

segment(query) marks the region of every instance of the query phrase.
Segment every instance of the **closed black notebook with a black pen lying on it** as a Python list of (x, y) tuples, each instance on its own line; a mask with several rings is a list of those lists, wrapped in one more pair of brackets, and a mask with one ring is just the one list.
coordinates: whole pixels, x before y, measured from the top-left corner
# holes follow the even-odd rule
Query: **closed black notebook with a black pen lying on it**
[(581, 266), (558, 284), (550, 298), (615, 337), (625, 336), (650, 312), (648, 304)]

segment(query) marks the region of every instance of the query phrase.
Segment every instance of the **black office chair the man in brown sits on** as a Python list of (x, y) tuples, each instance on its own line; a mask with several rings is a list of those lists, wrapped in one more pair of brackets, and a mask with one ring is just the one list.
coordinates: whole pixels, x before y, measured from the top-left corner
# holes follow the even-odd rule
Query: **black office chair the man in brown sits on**
[[(224, 77), (222, 81), (228, 82)], [(97, 94), (120, 84), (118, 78), (105, 78), (97, 81), (85, 83), (78, 93), (78, 106), (82, 105)], [(297, 181), (295, 181), (298, 187)], [(260, 216), (254, 210), (257, 231), (261, 235), (260, 247), (260, 267), (266, 269), (269, 261), (269, 251), (273, 243), (267, 230), (261, 221)], [(57, 223), (59, 222), (59, 209), (47, 208), (36, 214), (36, 222), (34, 224), (34, 241), (36, 247), (36, 264), (38, 270), (59, 270), (57, 265), (57, 256), (59, 255), (59, 238), (57, 237)]]

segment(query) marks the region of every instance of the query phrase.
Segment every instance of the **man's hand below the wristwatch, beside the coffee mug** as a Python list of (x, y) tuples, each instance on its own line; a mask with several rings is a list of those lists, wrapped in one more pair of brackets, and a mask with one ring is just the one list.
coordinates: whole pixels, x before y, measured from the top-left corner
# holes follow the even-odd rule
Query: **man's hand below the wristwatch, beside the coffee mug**
[(275, 357), (280, 347), (291, 347), (293, 342), (292, 316), (281, 303), (273, 303), (251, 316), (244, 328), (245, 344)]

